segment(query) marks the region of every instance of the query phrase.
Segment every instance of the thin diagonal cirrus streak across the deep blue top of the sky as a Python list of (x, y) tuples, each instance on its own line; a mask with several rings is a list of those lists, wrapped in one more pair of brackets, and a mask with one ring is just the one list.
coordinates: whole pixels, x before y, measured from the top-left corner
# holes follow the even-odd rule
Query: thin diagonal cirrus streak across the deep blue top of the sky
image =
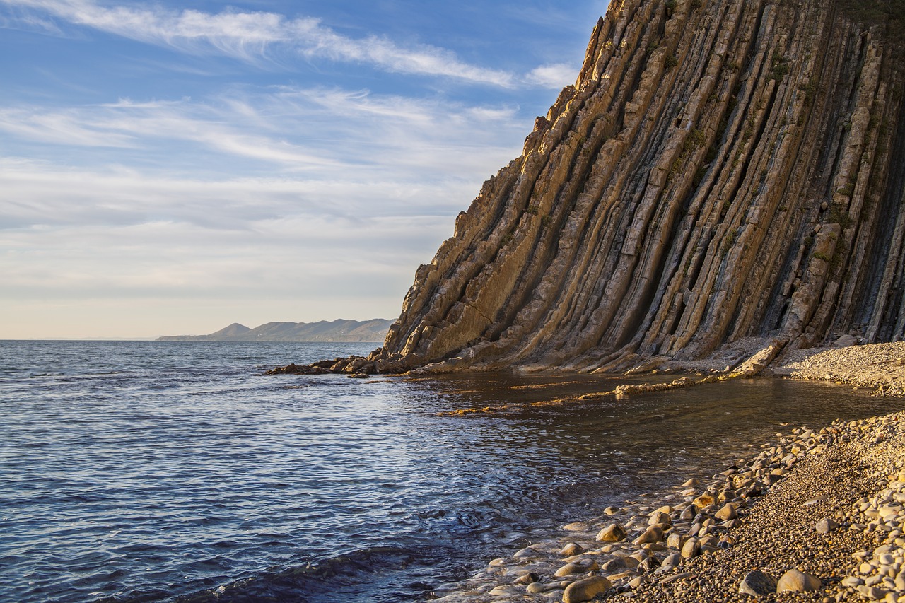
[[(100, 5), (92, 0), (0, 0), (20, 11), (23, 23), (46, 14), (70, 24), (188, 52), (216, 52), (258, 62), (273, 48), (289, 48), (308, 58), (368, 63), (387, 72), (455, 78), (509, 88), (509, 72), (462, 62), (455, 53), (429, 44), (400, 46), (376, 35), (350, 38), (311, 17), (266, 12), (205, 13), (155, 5)], [(36, 16), (37, 15), (37, 16)], [(44, 20), (46, 23), (46, 20)], [(10, 19), (6, 19), (7, 26)], [(52, 29), (45, 24), (45, 29)]]

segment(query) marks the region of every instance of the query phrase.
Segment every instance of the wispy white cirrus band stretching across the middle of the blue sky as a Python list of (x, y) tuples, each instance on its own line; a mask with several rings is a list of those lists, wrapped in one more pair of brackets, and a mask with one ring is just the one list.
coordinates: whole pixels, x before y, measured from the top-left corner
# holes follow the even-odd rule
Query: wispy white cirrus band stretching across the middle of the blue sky
[[(156, 155), (172, 171), (189, 166), (179, 153), (195, 161), (207, 157), (201, 152), (213, 152), (232, 161), (252, 159), (262, 169), (340, 180), (370, 170), (403, 181), (454, 173), (486, 176), (517, 154), (528, 127), (515, 106), (291, 86), (236, 88), (207, 101), (121, 99), (66, 108), (0, 108), (0, 132), (7, 135), (9, 150), (28, 143), (51, 153), (85, 148), (70, 163), (91, 157), (108, 162), (104, 154), (121, 149), (117, 163), (141, 158), (147, 164)], [(206, 169), (217, 165), (206, 164)]]

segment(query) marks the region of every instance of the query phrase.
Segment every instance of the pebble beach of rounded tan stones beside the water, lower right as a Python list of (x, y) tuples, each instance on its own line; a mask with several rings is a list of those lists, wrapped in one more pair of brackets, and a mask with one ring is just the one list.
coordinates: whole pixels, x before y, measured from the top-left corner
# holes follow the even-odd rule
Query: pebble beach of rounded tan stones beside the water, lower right
[[(798, 350), (775, 374), (905, 392), (900, 343)], [(903, 400), (905, 407), (905, 400)], [(437, 591), (459, 601), (905, 603), (905, 411), (777, 433)]]

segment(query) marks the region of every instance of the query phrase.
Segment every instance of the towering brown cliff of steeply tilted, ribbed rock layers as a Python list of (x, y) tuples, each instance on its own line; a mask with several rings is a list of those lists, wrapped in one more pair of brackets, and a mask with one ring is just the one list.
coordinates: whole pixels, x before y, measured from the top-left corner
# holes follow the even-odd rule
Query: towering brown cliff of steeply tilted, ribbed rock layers
[(612, 0), (368, 361), (624, 369), (746, 337), (902, 338), (905, 61), (897, 21), (858, 16)]

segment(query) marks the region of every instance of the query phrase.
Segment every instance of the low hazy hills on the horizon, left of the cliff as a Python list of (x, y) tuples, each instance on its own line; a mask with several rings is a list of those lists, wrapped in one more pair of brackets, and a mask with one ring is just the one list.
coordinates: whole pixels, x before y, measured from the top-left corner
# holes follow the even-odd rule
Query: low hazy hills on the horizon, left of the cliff
[(233, 322), (210, 335), (170, 335), (157, 341), (374, 341), (382, 343), (393, 321), (268, 322), (249, 329)]

